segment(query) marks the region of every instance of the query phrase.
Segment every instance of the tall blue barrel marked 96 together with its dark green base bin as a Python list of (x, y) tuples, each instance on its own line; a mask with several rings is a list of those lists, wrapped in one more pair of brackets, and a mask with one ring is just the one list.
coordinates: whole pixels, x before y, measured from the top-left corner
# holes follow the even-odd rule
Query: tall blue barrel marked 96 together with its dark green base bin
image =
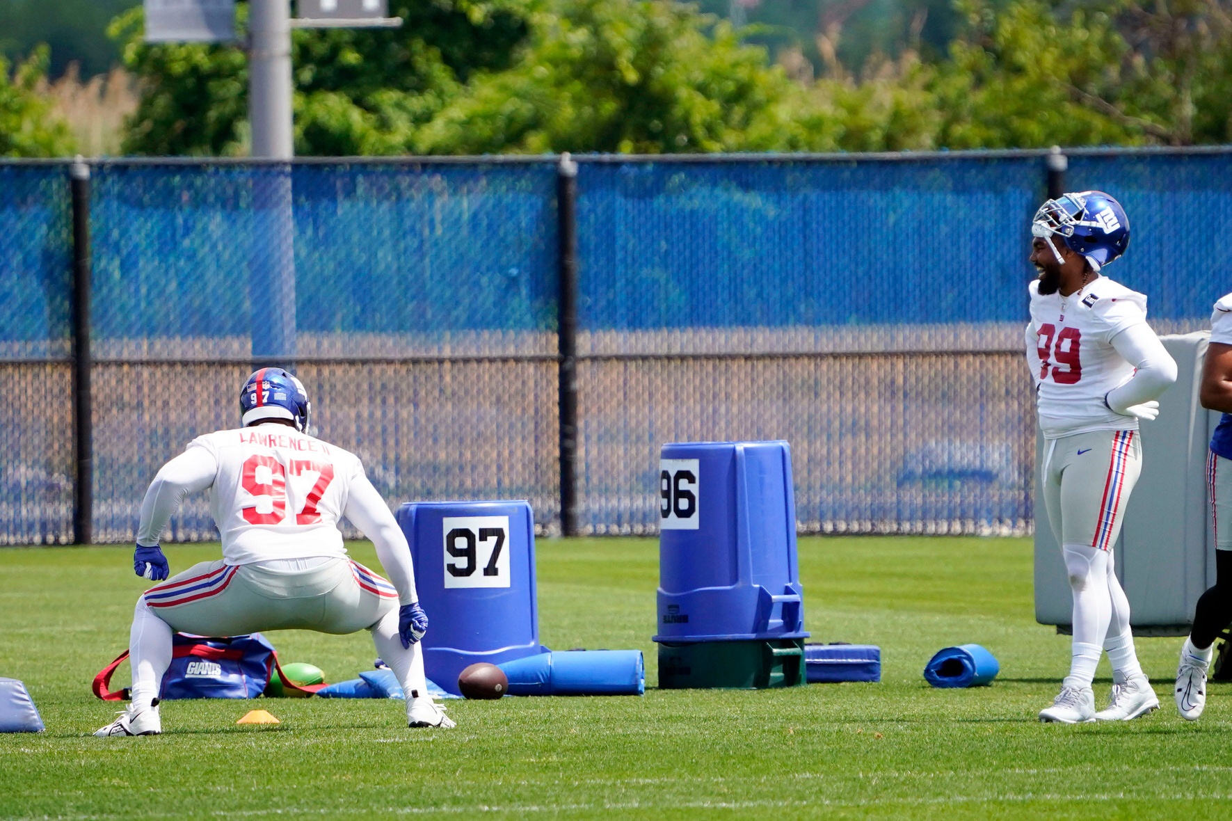
[(663, 446), (657, 626), (659, 687), (804, 683), (787, 443)]

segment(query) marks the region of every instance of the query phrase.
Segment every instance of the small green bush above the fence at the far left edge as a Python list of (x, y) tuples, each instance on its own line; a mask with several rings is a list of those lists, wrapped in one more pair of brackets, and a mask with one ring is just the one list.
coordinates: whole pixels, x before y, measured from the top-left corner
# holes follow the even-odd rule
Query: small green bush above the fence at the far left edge
[(73, 153), (68, 126), (55, 118), (39, 92), (47, 78), (48, 49), (34, 49), (10, 73), (0, 57), (0, 157), (57, 157)]

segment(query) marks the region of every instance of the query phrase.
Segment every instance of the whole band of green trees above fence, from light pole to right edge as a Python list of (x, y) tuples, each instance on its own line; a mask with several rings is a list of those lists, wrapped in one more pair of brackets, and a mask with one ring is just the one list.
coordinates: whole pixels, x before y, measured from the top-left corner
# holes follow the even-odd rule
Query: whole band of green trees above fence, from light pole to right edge
[[(674, 0), (391, 5), (398, 31), (294, 33), (298, 153), (1232, 142), (1232, 0), (956, 0), (944, 53), (915, 26), (859, 71), (832, 21), (816, 80)], [(127, 150), (245, 150), (239, 48), (148, 46), (139, 10), (113, 32), (144, 83)]]

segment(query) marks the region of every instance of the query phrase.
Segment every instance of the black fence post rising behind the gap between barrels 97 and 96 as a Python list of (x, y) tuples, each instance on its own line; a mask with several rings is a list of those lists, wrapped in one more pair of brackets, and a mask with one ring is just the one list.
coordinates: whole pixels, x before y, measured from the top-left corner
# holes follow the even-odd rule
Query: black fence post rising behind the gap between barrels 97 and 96
[(561, 534), (578, 535), (578, 164), (561, 155), (556, 176), (557, 233), (561, 242), (561, 296), (557, 339), (561, 354)]

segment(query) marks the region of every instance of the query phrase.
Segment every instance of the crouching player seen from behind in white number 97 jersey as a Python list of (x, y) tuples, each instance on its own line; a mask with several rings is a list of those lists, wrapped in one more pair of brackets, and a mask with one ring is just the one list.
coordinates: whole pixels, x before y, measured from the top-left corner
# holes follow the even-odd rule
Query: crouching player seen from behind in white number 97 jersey
[[(410, 549), (360, 460), (309, 436), (308, 394), (282, 369), (240, 392), (243, 428), (193, 439), (155, 476), (142, 503), (133, 568), (166, 579), (159, 536), (188, 493), (209, 492), (223, 558), (202, 562), (137, 599), (128, 639), (132, 704), (96, 736), (163, 731), (158, 695), (172, 631), (235, 636), (260, 630), (350, 634), (367, 629), (407, 694), (411, 727), (452, 727), (428, 695), (419, 646), (428, 616)], [(345, 517), (376, 545), (391, 582), (346, 555)]]

